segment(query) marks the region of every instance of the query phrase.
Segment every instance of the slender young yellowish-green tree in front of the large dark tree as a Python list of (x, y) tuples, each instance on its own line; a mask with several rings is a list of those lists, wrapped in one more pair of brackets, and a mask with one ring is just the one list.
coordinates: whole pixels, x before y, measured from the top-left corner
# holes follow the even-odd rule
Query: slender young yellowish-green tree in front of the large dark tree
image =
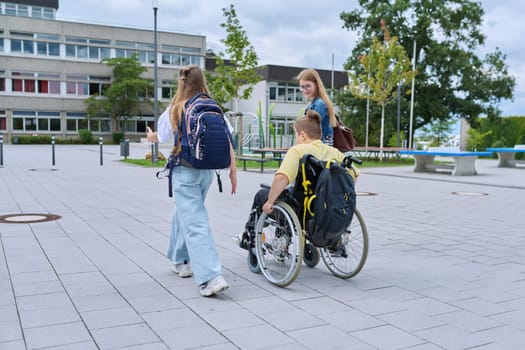
[(390, 36), (385, 21), (381, 20), (384, 41), (374, 37), (368, 53), (359, 56), (361, 65), (350, 71), (350, 91), (358, 98), (370, 99), (381, 107), (380, 159), (382, 159), (385, 107), (397, 97), (398, 86), (410, 83), (415, 71), (397, 37)]

